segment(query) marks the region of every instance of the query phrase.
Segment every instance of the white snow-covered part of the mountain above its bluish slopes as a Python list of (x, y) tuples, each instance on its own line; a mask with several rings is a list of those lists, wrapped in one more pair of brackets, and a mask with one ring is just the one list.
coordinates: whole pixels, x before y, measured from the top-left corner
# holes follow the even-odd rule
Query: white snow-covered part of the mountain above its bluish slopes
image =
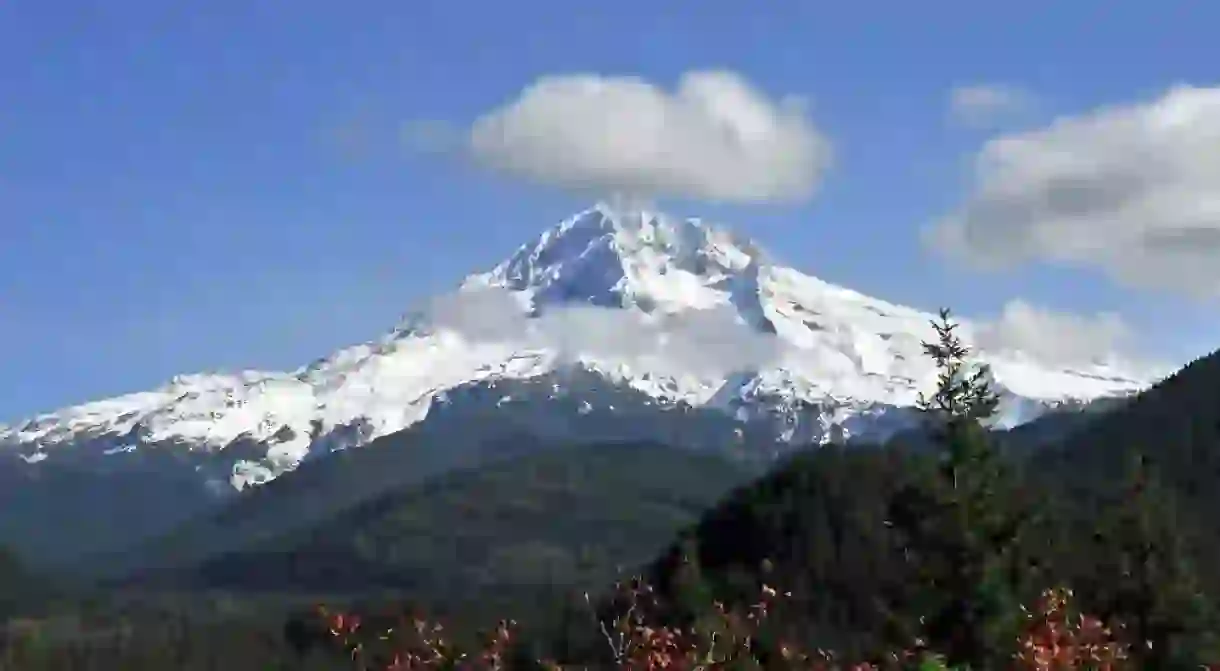
[[(780, 265), (698, 220), (598, 205), (381, 339), (293, 372), (179, 376), (41, 415), (0, 427), (0, 449), (30, 464), (99, 465), (178, 450), (212, 486), (242, 489), (410, 427), (448, 390), (553, 378), (559, 395), (588, 373), (659, 411), (715, 409), (771, 423), (791, 444), (821, 443), (905, 426), (933, 382), (920, 346), (931, 318)], [(978, 354), (1005, 425), (1157, 377), (1118, 362), (1065, 368), (1020, 351)]]

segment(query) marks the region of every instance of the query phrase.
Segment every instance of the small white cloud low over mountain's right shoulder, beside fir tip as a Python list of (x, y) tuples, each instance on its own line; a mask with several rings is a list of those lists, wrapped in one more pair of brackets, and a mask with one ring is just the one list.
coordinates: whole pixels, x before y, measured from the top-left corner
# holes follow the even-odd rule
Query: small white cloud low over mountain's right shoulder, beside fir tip
[(1131, 329), (1119, 315), (1074, 315), (1036, 307), (1024, 300), (1004, 304), (999, 316), (975, 327), (988, 351), (1021, 351), (1061, 366), (1126, 359)]

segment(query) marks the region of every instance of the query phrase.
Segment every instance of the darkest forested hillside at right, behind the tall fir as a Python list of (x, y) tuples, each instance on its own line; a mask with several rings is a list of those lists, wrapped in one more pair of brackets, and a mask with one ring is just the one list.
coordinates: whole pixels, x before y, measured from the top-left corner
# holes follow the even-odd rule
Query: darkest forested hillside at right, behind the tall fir
[[(954, 488), (941, 508), (926, 508), (913, 493), (943, 478), (947, 464), (960, 461), (965, 473), (992, 464), (1008, 475), (988, 481), (970, 510), (1002, 521), (999, 536), (941, 550), (1010, 542), (997, 560), (1014, 595), (1074, 588), (1086, 611), (1157, 638), (1157, 653), (1139, 658), (1148, 667), (1170, 658), (1215, 661), (1208, 655), (1220, 632), (1220, 353), (1072, 423), (1036, 449), (1009, 436), (1005, 464), (986, 453), (967, 458), (952, 444), (913, 450), (909, 440), (799, 455), (705, 515), (653, 566), (653, 580), (675, 594), (680, 560), (693, 555), (720, 598), (742, 599), (764, 581), (781, 584), (793, 593), (788, 615), (810, 644), (875, 651), (892, 643), (895, 610), (920, 603), (910, 586), (927, 578), (926, 564), (909, 561), (900, 516), (969, 500)], [(919, 503), (925, 508), (911, 506)]]

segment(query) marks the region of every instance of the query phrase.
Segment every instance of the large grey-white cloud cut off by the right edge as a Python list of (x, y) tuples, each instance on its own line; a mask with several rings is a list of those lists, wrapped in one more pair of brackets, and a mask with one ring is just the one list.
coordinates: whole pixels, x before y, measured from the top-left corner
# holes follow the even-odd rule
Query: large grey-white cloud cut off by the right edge
[(1220, 88), (1177, 87), (997, 137), (975, 182), (930, 244), (981, 266), (1092, 266), (1220, 298)]

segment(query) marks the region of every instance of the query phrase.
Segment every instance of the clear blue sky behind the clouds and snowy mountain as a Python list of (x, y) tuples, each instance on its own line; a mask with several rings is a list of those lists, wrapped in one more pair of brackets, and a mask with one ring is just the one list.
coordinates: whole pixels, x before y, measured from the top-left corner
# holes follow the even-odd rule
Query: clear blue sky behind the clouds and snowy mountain
[[(4, 2), (0, 418), (294, 367), (503, 259), (587, 199), (412, 151), (401, 128), (470, 124), (565, 73), (672, 88), (719, 68), (810, 101), (834, 149), (814, 199), (669, 211), (898, 303), (1119, 312), (1182, 360), (1220, 345), (1214, 301), (1098, 264), (982, 272), (920, 228), (969, 198), (997, 134), (1215, 85), (1218, 24), (1185, 1)], [(1035, 102), (1008, 127), (954, 121), (954, 87), (999, 84)]]

